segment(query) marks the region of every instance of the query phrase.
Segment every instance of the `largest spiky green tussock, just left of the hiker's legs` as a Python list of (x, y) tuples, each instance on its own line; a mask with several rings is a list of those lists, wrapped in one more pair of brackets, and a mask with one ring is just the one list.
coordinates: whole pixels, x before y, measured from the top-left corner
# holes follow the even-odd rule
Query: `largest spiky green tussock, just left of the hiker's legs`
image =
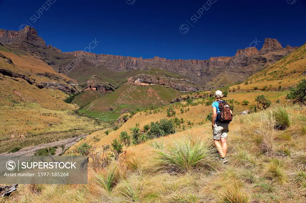
[(190, 170), (214, 170), (216, 149), (191, 137), (175, 140), (166, 150), (156, 151), (158, 169), (169, 172), (186, 172)]

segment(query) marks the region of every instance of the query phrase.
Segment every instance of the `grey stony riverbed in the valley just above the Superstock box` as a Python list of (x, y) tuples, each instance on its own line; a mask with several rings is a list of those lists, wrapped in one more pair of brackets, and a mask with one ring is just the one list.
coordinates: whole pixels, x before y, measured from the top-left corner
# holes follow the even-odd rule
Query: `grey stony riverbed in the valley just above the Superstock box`
[(72, 137), (72, 138), (68, 138), (65, 140), (59, 140), (59, 141), (55, 141), (55, 142), (49, 142), (49, 143), (45, 143), (45, 144), (39, 144), (39, 145), (35, 145), (32, 147), (26, 147), (26, 148), (22, 148), (21, 150), (17, 151), (17, 152), (13, 152), (13, 153), (2, 153), (0, 154), (0, 156), (29, 156), (29, 155), (34, 155), (35, 151), (39, 150), (39, 149), (43, 149), (46, 147), (53, 147), (53, 146), (58, 146), (58, 149), (56, 149), (55, 155), (59, 155), (60, 153), (62, 153), (62, 148), (59, 147), (60, 145), (65, 145), (65, 149), (71, 147), (73, 144), (76, 144), (81, 137), (86, 137), (88, 134), (81, 134), (80, 136), (77, 137)]

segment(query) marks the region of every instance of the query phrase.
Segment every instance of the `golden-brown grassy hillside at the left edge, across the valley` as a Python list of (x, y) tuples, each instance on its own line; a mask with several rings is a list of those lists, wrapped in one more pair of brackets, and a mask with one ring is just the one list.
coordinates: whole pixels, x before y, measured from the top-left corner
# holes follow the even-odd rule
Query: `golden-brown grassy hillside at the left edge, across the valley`
[[(13, 64), (0, 57), (2, 69), (28, 76), (35, 82), (71, 80), (54, 70), (46, 63), (31, 55), (14, 55), (1, 51), (12, 59)], [(53, 73), (57, 80), (39, 77), (36, 73)], [(54, 89), (39, 89), (21, 78), (0, 74), (0, 153), (14, 147), (28, 147), (36, 144), (70, 138), (80, 134), (90, 134), (108, 124), (75, 114), (79, 107), (67, 104), (69, 95)]]

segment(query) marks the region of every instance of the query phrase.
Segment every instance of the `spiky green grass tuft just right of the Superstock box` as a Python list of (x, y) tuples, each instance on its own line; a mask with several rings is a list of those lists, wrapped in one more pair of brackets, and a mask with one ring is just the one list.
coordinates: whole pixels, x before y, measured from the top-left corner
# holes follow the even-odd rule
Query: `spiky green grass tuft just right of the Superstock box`
[(106, 174), (100, 173), (100, 174), (95, 174), (94, 181), (99, 183), (102, 187), (104, 187), (105, 190), (111, 191), (112, 188), (117, 184), (118, 182), (118, 171), (117, 171), (117, 166), (116, 164), (110, 166)]

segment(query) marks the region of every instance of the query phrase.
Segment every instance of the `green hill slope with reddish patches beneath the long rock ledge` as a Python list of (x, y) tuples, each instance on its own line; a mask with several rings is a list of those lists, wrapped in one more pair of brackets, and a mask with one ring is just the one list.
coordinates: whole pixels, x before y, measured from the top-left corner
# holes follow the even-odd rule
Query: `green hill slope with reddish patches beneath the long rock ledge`
[[(186, 94), (162, 85), (136, 86), (123, 84), (116, 91), (106, 94), (85, 106), (79, 112), (99, 118), (101, 112), (106, 112), (107, 120), (117, 119), (122, 109), (147, 109), (152, 106), (167, 105), (174, 97)], [(114, 111), (107, 111), (113, 108)]]

